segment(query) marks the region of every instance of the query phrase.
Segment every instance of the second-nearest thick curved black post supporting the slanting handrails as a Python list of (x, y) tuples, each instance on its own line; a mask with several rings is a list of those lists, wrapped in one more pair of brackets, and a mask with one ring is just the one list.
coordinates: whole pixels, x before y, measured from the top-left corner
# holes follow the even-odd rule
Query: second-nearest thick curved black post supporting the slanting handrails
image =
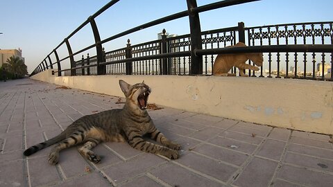
[(106, 65), (100, 65), (99, 63), (105, 62), (105, 56), (103, 53), (103, 47), (101, 42), (101, 37), (99, 36), (99, 29), (97, 28), (94, 18), (89, 17), (90, 26), (92, 26), (92, 33), (94, 33), (94, 39), (96, 44), (96, 54), (97, 54), (97, 75), (106, 74)]

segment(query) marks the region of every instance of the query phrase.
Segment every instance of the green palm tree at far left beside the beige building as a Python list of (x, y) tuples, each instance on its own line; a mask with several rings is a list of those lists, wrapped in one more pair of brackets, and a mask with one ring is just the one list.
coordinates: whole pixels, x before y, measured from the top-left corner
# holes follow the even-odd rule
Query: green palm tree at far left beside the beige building
[(8, 63), (8, 71), (17, 75), (19, 78), (23, 78), (28, 74), (27, 66), (20, 57), (13, 55), (9, 57), (6, 62)]

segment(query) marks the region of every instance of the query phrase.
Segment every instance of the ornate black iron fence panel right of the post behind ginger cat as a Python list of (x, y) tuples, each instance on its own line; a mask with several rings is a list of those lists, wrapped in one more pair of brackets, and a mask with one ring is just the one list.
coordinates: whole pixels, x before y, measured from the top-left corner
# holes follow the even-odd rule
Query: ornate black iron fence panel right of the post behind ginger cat
[[(246, 28), (246, 32), (248, 33), (248, 44), (252, 46), (258, 45), (258, 43), (261, 46), (275, 44), (333, 44), (332, 24), (333, 22), (280, 24)], [(301, 54), (294, 53), (293, 60), (291, 60), (289, 53), (264, 54), (264, 59), (268, 60), (268, 66), (264, 63), (262, 70), (268, 69), (266, 71), (268, 78), (280, 78), (282, 75), (284, 78), (332, 79), (332, 73), (330, 78), (325, 78), (325, 74), (328, 72), (327, 69), (330, 66), (332, 67), (333, 62), (329, 57), (332, 53), (330, 55), (321, 53), (321, 57), (317, 53)], [(283, 62), (286, 64), (284, 69), (280, 66)], [(326, 70), (323, 71), (324, 69)]]

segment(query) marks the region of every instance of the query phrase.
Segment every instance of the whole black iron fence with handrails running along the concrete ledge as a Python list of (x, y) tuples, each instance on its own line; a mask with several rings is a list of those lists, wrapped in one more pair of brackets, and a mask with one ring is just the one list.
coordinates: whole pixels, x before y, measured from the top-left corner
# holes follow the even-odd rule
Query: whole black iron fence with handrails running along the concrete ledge
[[(231, 28), (200, 30), (199, 12), (246, 2), (250, 1), (227, 0), (197, 7), (195, 0), (187, 0), (186, 11), (156, 19), (101, 41), (94, 18), (117, 3), (110, 1), (47, 55), (31, 75), (53, 67), (58, 69), (55, 73), (59, 76), (67, 74), (62, 72), (69, 72), (69, 75), (212, 75), (216, 54), (261, 52), (264, 53), (264, 64), (260, 71), (246, 71), (249, 76), (333, 80), (330, 73), (333, 21), (251, 28), (246, 28), (241, 22)], [(162, 30), (160, 38), (151, 42), (132, 46), (128, 39), (128, 43), (124, 44), (126, 47), (108, 52), (102, 47), (112, 39), (185, 16), (190, 22), (188, 35), (167, 35), (166, 30)], [(95, 44), (73, 53), (68, 39), (86, 24), (92, 26)], [(237, 42), (244, 42), (248, 47), (225, 48)], [(59, 59), (57, 50), (62, 45), (67, 46), (69, 55)], [(96, 48), (97, 55), (82, 55), (80, 60), (74, 60), (74, 56), (90, 48)], [(56, 57), (56, 62), (51, 61), (51, 55)], [(70, 69), (62, 69), (61, 62), (65, 60), (69, 60)], [(237, 71), (232, 69), (233, 73)]]

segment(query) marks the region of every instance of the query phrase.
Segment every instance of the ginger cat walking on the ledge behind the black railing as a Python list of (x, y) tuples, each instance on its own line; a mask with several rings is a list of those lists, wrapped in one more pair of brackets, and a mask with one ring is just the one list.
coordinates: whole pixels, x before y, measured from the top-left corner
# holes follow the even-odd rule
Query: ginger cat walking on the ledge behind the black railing
[[(242, 42), (238, 42), (234, 46), (227, 47), (239, 47), (246, 46), (246, 44)], [(213, 75), (216, 76), (235, 76), (234, 73), (228, 73), (232, 66), (235, 66), (239, 69), (239, 73), (242, 77), (247, 77), (244, 73), (245, 69), (251, 69), (253, 71), (258, 71), (259, 68), (257, 66), (253, 66), (250, 64), (246, 64), (246, 60), (251, 60), (257, 66), (262, 66), (262, 62), (264, 61), (262, 57), (262, 53), (234, 53), (234, 54), (219, 54), (217, 55), (214, 66), (213, 66)]]

